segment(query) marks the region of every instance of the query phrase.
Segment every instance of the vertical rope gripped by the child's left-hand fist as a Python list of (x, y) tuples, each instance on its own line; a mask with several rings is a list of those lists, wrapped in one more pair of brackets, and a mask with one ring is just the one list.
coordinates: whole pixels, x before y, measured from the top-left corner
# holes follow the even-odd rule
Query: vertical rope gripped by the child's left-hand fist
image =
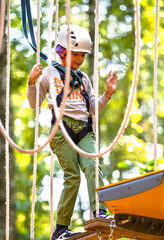
[[(37, 63), (39, 62), (40, 62), (40, 0), (37, 0)], [(38, 146), (38, 118), (39, 118), (39, 77), (37, 79), (37, 93), (36, 93), (35, 144), (34, 144), (35, 148), (37, 148)], [(33, 165), (33, 187), (32, 187), (31, 229), (30, 229), (31, 240), (34, 240), (36, 174), (37, 174), (37, 152), (34, 153), (34, 165)]]

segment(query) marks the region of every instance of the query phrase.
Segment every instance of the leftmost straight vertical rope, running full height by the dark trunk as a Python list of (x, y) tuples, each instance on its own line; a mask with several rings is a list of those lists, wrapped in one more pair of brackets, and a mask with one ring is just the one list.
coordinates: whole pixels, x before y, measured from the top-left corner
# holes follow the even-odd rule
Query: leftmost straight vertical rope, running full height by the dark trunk
[[(7, 0), (7, 82), (6, 82), (6, 132), (9, 134), (9, 92), (10, 92), (10, 0)], [(6, 240), (9, 240), (10, 186), (9, 186), (9, 143), (5, 141), (6, 153)]]

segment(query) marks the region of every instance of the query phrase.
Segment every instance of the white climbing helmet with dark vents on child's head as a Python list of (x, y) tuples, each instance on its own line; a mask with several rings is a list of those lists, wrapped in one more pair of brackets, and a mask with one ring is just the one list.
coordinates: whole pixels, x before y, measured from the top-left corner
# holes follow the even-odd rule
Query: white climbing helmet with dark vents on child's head
[[(58, 32), (57, 44), (67, 48), (68, 26), (63, 25)], [(74, 52), (91, 53), (92, 41), (88, 31), (78, 25), (70, 25), (70, 50)]]

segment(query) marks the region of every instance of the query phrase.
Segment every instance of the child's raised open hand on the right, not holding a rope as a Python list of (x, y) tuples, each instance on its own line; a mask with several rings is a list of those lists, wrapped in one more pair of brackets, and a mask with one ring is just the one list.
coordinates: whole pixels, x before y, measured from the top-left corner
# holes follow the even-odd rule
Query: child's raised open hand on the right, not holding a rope
[(112, 74), (112, 71), (110, 71), (107, 75), (107, 80), (106, 80), (106, 85), (107, 85), (107, 90), (105, 92), (105, 96), (107, 98), (110, 98), (112, 94), (115, 92), (116, 87), (117, 87), (117, 72), (114, 72)]

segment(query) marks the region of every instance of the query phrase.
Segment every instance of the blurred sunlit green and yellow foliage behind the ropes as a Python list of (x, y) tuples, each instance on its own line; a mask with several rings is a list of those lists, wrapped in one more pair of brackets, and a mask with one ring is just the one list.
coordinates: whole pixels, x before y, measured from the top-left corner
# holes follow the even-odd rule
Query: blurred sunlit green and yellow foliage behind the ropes
[[(100, 148), (109, 145), (121, 126), (127, 107), (129, 92), (133, 78), (134, 67), (134, 5), (132, 1), (99, 1), (99, 92), (105, 91), (106, 75), (109, 70), (117, 70), (119, 75), (116, 93), (108, 106), (100, 114)], [(104, 176), (108, 182), (119, 181), (139, 174), (153, 171), (153, 64), (154, 64), (154, 29), (155, 13), (154, 1), (141, 0), (141, 55), (140, 72), (136, 98), (133, 103), (131, 117), (124, 135), (110, 154), (103, 156), (100, 161)], [(36, 2), (32, 2), (36, 6)], [(103, 7), (103, 8), (102, 8)], [(41, 5), (41, 49), (47, 46), (48, 25), (47, 1)], [(103, 9), (103, 11), (101, 11)], [(89, 29), (88, 1), (71, 1), (71, 23), (81, 24)], [(163, 166), (163, 132), (164, 132), (164, 70), (163, 70), (163, 26), (164, 8), (160, 1), (159, 19), (159, 56), (158, 56), (158, 141), (161, 154), (158, 159), (159, 166)], [(36, 62), (36, 54), (24, 39), (21, 26), (20, 3), (11, 3), (11, 102), (13, 110), (14, 139), (22, 148), (33, 148), (35, 111), (27, 104), (26, 86), (28, 75)], [(34, 14), (35, 15), (35, 14)], [(66, 22), (65, 1), (59, 1), (59, 25)], [(36, 25), (36, 18), (34, 17)], [(54, 28), (54, 24), (53, 24)], [(94, 36), (92, 36), (94, 40)], [(45, 66), (45, 63), (43, 63)], [(82, 70), (89, 73), (93, 62), (87, 60)], [(91, 80), (92, 79), (91, 76)], [(46, 103), (42, 111), (47, 108)], [(40, 111), (40, 115), (42, 113)], [(46, 110), (45, 110), (46, 111)], [(48, 110), (47, 110), (48, 111)], [(49, 113), (44, 116), (49, 116)], [(48, 137), (50, 119), (45, 119), (39, 125), (39, 142), (43, 143)], [(45, 123), (47, 122), (47, 123)], [(50, 175), (50, 164), (46, 162), (49, 149), (38, 153), (37, 169), (37, 198), (35, 215), (36, 239), (49, 239), (50, 211), (49, 202), (41, 198), (43, 179)], [(33, 178), (33, 155), (21, 154), (15, 151), (16, 159), (16, 215), (17, 240), (29, 239), (31, 218), (31, 189)], [(59, 164), (55, 161), (55, 174), (59, 171)], [(54, 175), (55, 175), (54, 174)], [(79, 206), (81, 199), (79, 197)], [(80, 208), (79, 208), (80, 209)], [(83, 226), (84, 209), (77, 210), (72, 220), (72, 229)], [(56, 213), (55, 213), (56, 214)], [(54, 214), (54, 215), (55, 215)]]

